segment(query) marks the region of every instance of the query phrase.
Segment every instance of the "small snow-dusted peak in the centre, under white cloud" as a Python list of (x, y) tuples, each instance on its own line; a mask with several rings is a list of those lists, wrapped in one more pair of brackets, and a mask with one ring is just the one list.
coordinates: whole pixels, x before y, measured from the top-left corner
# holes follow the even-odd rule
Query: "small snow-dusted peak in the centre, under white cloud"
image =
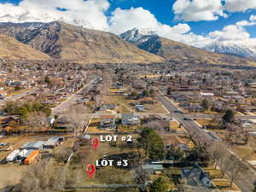
[[(125, 41), (135, 43), (141, 38), (146, 38), (146, 36), (157, 36), (156, 32), (150, 30), (150, 29), (139, 29), (139, 28), (133, 28), (127, 32), (124, 32), (120, 34), (120, 38), (123, 38)], [(147, 39), (144, 39), (146, 41)]]

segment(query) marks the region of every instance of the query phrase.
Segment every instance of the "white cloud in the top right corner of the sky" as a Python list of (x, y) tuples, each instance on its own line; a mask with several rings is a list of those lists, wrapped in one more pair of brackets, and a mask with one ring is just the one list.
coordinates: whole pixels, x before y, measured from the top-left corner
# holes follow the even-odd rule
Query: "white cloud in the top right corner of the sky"
[(230, 12), (246, 11), (247, 9), (256, 9), (254, 0), (225, 0), (225, 9)]

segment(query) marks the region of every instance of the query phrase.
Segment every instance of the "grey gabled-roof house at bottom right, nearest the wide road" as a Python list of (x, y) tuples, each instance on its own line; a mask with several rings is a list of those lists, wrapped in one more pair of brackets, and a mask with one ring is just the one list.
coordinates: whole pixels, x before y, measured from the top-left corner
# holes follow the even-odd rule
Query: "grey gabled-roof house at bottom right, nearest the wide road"
[(207, 172), (204, 172), (200, 166), (195, 165), (192, 169), (182, 169), (181, 177), (184, 185), (193, 189), (191, 191), (210, 191), (212, 182)]

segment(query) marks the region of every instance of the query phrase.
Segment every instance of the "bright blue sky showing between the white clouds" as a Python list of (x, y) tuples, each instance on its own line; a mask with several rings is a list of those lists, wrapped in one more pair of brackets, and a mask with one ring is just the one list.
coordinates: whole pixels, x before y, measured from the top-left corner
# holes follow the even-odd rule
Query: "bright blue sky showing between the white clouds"
[[(118, 7), (122, 9), (143, 7), (154, 14), (160, 22), (173, 26), (177, 23), (184, 22), (174, 19), (175, 15), (172, 11), (174, 2), (175, 0), (113, 0), (111, 1), (111, 10)], [(192, 32), (205, 34), (215, 30), (221, 30), (224, 26), (234, 24), (240, 20), (249, 20), (250, 15), (256, 15), (256, 10), (250, 9), (246, 12), (229, 13), (229, 18), (219, 18), (218, 20), (210, 21), (192, 21), (187, 23), (191, 26)], [(250, 32), (251, 36), (256, 38), (256, 26), (247, 27), (247, 32)]]

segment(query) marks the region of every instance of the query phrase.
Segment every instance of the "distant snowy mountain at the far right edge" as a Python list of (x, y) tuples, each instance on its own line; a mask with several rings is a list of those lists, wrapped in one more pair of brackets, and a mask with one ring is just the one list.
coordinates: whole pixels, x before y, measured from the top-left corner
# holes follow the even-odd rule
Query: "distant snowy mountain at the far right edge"
[(214, 42), (203, 47), (209, 51), (215, 53), (221, 53), (225, 55), (236, 55), (256, 61), (256, 42)]

